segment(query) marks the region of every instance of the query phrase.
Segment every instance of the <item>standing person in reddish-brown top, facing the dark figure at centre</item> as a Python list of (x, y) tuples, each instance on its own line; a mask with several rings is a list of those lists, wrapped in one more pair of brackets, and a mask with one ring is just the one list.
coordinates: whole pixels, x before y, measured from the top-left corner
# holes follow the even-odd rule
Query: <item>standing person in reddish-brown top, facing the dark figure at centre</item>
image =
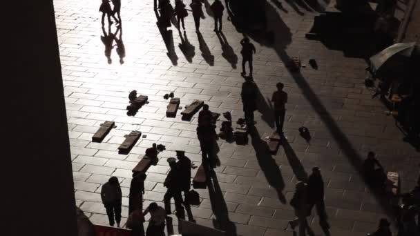
[(283, 125), (285, 124), (285, 115), (287, 103), (287, 92), (283, 91), (285, 85), (283, 83), (276, 84), (277, 91), (273, 92), (271, 101), (274, 103), (274, 119), (276, 121), (276, 130), (278, 134), (283, 133)]

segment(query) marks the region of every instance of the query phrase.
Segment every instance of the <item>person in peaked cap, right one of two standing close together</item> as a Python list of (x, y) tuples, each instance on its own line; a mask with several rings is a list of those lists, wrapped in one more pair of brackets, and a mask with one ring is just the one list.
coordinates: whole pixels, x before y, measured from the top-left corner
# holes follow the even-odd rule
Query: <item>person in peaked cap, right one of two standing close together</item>
[[(191, 160), (185, 156), (184, 151), (177, 150), (176, 157), (178, 158), (177, 167), (180, 172), (180, 186), (181, 191), (184, 192), (184, 199), (187, 198), (191, 188), (191, 168), (193, 165)], [(184, 207), (187, 210), (188, 219), (190, 222), (195, 222), (193, 214), (191, 213), (191, 206), (188, 201), (184, 200)]]

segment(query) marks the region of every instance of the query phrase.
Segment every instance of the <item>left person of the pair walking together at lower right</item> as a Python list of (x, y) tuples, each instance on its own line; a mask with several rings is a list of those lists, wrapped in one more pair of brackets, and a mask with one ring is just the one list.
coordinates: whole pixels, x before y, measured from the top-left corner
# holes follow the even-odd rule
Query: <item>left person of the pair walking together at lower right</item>
[(290, 200), (290, 205), (293, 206), (296, 219), (289, 221), (290, 226), (294, 230), (299, 225), (299, 235), (305, 236), (305, 231), (308, 231), (309, 235), (314, 235), (311, 228), (307, 224), (307, 184), (303, 181), (296, 183), (296, 190)]

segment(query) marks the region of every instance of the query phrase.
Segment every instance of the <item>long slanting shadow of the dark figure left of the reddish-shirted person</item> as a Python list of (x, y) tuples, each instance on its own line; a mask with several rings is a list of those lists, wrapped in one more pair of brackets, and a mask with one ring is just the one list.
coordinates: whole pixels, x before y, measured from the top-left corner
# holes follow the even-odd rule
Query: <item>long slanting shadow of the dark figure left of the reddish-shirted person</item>
[(249, 128), (249, 134), (251, 135), (251, 144), (256, 152), (258, 165), (264, 173), (267, 182), (271, 187), (276, 189), (278, 199), (285, 204), (286, 198), (283, 195), (283, 189), (285, 188), (285, 181), (281, 175), (280, 168), (276, 160), (271, 156), (267, 142), (262, 140), (258, 130), (255, 126)]

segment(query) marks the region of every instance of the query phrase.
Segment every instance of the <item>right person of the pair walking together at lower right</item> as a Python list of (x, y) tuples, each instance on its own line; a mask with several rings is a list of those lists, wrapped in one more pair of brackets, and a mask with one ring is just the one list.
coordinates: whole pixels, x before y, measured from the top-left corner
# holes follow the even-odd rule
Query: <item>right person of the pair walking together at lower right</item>
[(316, 206), (316, 213), (319, 217), (319, 225), (324, 230), (325, 235), (330, 235), (330, 226), (327, 222), (327, 213), (325, 211), (324, 203), (324, 181), (321, 175), (321, 170), (318, 166), (312, 168), (312, 174), (307, 180), (308, 187), (308, 207), (309, 212)]

